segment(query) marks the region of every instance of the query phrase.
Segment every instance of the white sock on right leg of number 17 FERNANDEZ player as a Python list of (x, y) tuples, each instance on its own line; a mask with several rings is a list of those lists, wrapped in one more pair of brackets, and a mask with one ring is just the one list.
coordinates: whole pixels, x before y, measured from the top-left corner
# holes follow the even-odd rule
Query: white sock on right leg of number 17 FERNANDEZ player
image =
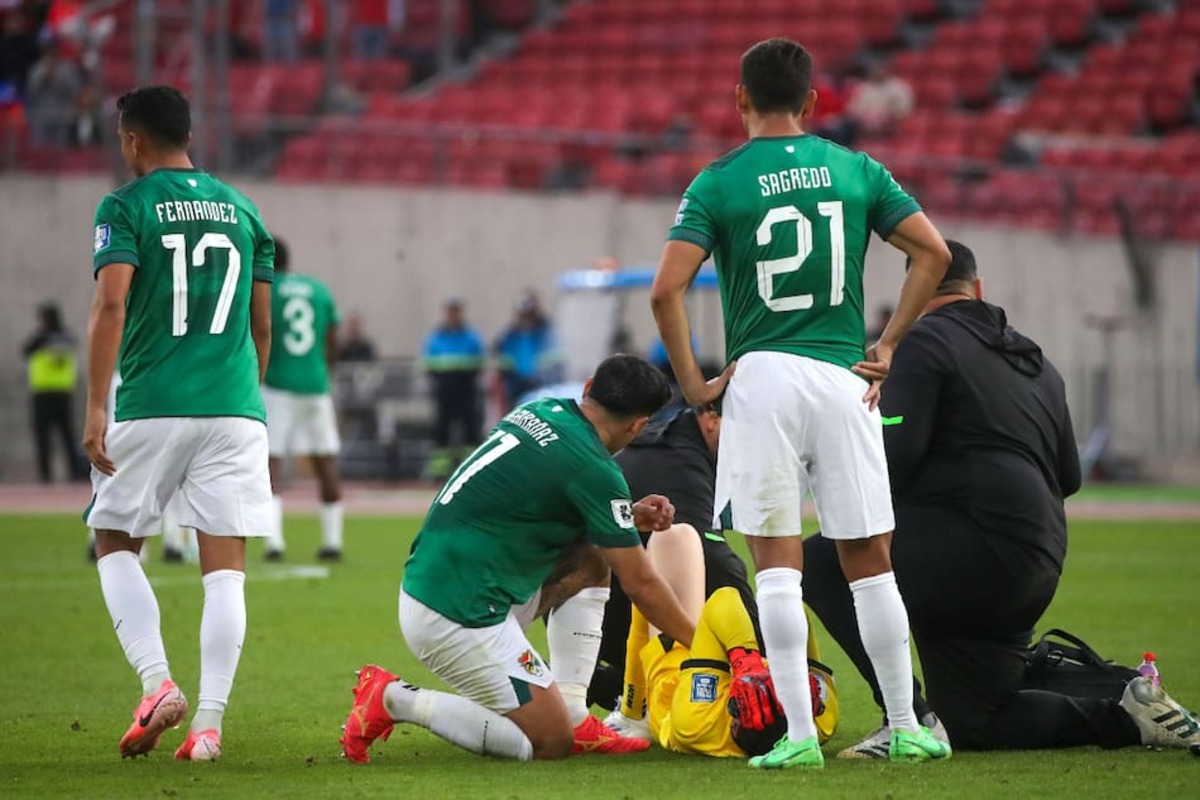
[[(200, 616), (200, 696), (192, 730), (216, 728), (229, 702), (233, 678), (246, 638), (246, 573), (236, 570), (209, 572), (204, 581), (204, 614)], [(208, 712), (208, 714), (205, 714)]]

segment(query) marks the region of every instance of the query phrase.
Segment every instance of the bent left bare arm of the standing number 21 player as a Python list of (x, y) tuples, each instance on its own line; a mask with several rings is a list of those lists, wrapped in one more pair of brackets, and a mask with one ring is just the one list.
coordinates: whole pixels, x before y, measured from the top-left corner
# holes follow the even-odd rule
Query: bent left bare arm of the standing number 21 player
[(659, 336), (667, 349), (679, 389), (691, 405), (716, 401), (733, 377), (734, 367), (731, 363), (720, 375), (706, 381), (696, 354), (691, 350), (691, 325), (688, 321), (684, 295), (707, 257), (701, 247), (691, 242), (668, 241), (662, 248), (659, 271), (650, 288), (650, 307), (659, 324)]

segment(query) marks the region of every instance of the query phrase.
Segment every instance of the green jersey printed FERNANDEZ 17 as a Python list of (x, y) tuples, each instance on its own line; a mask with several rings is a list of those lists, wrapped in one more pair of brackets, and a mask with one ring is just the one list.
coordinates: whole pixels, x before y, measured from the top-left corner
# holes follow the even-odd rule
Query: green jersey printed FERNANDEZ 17
[(236, 190), (196, 169), (157, 169), (96, 209), (92, 267), (132, 264), (118, 422), (156, 416), (266, 420), (250, 335), (254, 281), (275, 242)]

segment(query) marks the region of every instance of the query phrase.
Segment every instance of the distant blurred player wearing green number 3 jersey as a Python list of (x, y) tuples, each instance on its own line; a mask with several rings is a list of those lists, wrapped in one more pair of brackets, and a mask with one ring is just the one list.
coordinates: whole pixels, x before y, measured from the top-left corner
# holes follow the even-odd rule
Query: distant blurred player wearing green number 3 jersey
[(337, 415), (329, 375), (337, 359), (341, 315), (329, 287), (290, 271), (288, 247), (275, 240), (271, 285), (271, 357), (263, 381), (266, 441), (271, 451), (271, 535), (266, 559), (283, 558), (283, 504), (278, 485), (282, 461), (308, 456), (320, 487), (320, 549), (317, 558), (342, 558), (342, 487), (337, 479)]

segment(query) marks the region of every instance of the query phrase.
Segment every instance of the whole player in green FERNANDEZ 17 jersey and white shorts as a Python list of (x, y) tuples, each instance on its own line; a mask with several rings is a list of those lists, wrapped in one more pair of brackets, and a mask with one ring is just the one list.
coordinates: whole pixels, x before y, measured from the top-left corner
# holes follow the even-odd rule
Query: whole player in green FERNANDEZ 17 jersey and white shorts
[[(187, 714), (138, 553), (173, 495), (197, 530), (204, 613), (199, 704), (175, 758), (221, 754), (221, 718), (246, 636), (246, 537), (270, 525), (259, 381), (271, 337), (274, 245), (258, 210), (187, 156), (191, 110), (169, 86), (118, 101), (137, 180), (96, 209), (84, 450), (104, 603), (143, 698), (121, 756), (148, 753)], [(120, 361), (114, 422), (106, 413)]]

